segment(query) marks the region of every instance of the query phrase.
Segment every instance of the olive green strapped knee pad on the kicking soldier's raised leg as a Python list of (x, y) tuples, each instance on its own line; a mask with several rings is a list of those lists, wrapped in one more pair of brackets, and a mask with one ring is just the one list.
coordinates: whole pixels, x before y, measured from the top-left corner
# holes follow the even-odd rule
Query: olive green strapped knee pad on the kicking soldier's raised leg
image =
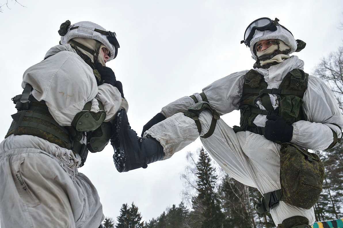
[(184, 112), (184, 115), (189, 117), (189, 118), (194, 119), (194, 121), (197, 125), (197, 128), (198, 128), (199, 134), (201, 133), (201, 124), (199, 121), (199, 114), (202, 111), (204, 111), (205, 109), (207, 109), (211, 112), (213, 118), (211, 121), (210, 129), (206, 134), (204, 134), (203, 136), (200, 136), (201, 138), (210, 137), (214, 132), (214, 129), (215, 129), (215, 126), (217, 123), (217, 119), (220, 118), (219, 113), (214, 109), (214, 107), (211, 104), (209, 104), (208, 102), (205, 102), (205, 101), (200, 101), (196, 104), (193, 104), (192, 106), (188, 107), (187, 109), (188, 109), (188, 111)]

